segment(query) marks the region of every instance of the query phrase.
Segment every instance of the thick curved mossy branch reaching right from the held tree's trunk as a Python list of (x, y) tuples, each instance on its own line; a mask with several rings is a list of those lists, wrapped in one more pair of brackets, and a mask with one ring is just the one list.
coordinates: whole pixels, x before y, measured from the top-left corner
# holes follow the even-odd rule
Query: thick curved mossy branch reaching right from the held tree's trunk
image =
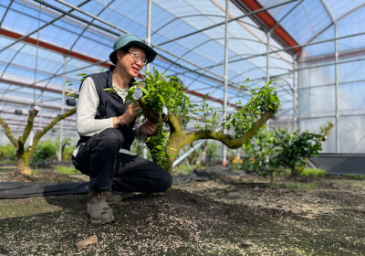
[[(225, 144), (227, 147), (235, 149), (241, 147), (245, 144), (249, 139), (254, 136), (254, 134), (260, 129), (261, 126), (266, 123), (266, 121), (272, 117), (276, 112), (272, 110), (268, 110), (265, 112), (259, 120), (240, 138), (234, 138), (232, 135), (227, 135), (222, 132), (214, 132), (208, 130), (201, 130), (192, 133), (186, 134), (186, 140), (184, 140), (185, 144), (190, 144), (197, 140), (202, 139), (213, 139), (216, 141), (220, 141)], [(185, 145), (183, 144), (183, 145)], [(182, 145), (182, 146), (183, 146)]]

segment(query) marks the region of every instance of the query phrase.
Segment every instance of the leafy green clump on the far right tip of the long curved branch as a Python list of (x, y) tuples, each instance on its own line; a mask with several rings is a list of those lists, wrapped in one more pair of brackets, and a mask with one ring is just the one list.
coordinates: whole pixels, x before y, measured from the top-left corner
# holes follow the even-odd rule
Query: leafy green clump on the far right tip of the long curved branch
[[(235, 138), (244, 135), (264, 112), (277, 110), (280, 101), (277, 98), (275, 88), (270, 87), (270, 83), (271, 81), (266, 82), (266, 85), (259, 91), (251, 90), (250, 92), (253, 94), (251, 100), (237, 112), (227, 115), (224, 128), (234, 128)], [(237, 104), (241, 104), (241, 102), (239, 101)]]

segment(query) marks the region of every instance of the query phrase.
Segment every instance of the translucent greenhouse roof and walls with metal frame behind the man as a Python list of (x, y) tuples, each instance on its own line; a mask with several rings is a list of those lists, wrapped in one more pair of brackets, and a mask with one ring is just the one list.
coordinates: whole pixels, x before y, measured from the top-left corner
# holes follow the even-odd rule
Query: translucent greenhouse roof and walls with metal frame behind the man
[[(129, 32), (148, 38), (158, 52), (151, 66), (179, 77), (193, 103), (209, 93), (209, 105), (224, 110), (225, 95), (232, 112), (273, 80), (281, 107), (270, 125), (316, 131), (330, 120), (323, 152), (363, 153), (362, 12), (360, 0), (2, 0), (1, 116), (21, 133), (36, 104), (35, 129), (43, 127), (70, 108), (62, 93), (78, 91), (77, 74), (107, 69), (114, 40)], [(77, 136), (75, 116), (47, 136), (61, 130)]]

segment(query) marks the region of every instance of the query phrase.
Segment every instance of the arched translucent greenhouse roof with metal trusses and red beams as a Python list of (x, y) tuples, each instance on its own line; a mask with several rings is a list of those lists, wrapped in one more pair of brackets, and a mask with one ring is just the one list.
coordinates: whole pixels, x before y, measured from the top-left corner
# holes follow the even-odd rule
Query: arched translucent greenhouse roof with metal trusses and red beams
[[(336, 32), (339, 54), (363, 50), (364, 5), (361, 0), (230, 1), (227, 111), (248, 101), (249, 89), (274, 79), (282, 101), (276, 118), (292, 119), (296, 63), (334, 57)], [(210, 106), (218, 110), (224, 101), (225, 15), (224, 0), (151, 5), (151, 45), (158, 52), (151, 66), (179, 77), (194, 103), (209, 93)], [(0, 17), (0, 117), (22, 131), (31, 106), (42, 107), (35, 127), (43, 127), (62, 111), (64, 84), (66, 91), (78, 91), (78, 73), (108, 69), (117, 37), (126, 32), (146, 37), (148, 1), (0, 0)], [(15, 110), (23, 113), (16, 116)], [(75, 115), (63, 129), (75, 133)]]

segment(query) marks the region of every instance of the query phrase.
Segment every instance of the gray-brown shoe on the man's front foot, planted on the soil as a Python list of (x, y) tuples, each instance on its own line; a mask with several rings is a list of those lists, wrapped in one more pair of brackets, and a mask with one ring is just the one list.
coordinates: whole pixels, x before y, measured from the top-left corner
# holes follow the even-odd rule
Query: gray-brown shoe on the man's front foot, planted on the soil
[(114, 220), (113, 210), (106, 201), (104, 191), (89, 191), (88, 214), (93, 224), (104, 224)]

